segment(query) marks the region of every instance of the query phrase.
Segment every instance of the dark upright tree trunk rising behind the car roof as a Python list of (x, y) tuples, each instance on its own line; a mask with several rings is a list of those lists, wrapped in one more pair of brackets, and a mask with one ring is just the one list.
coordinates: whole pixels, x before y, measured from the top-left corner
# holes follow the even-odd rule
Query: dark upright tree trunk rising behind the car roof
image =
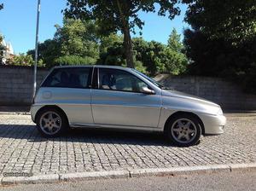
[(124, 33), (124, 47), (125, 47), (125, 57), (126, 57), (127, 67), (134, 68), (130, 28), (124, 27), (123, 33)]

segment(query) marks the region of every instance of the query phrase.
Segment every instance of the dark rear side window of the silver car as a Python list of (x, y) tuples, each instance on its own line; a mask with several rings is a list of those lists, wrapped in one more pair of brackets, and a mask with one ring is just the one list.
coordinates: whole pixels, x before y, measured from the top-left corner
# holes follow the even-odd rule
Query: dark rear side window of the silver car
[(90, 68), (57, 68), (45, 79), (42, 87), (88, 88)]

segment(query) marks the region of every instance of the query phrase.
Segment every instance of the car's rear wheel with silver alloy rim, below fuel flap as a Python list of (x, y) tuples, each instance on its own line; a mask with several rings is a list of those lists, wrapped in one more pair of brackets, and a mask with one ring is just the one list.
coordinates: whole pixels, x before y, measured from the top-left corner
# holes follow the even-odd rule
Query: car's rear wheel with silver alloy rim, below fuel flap
[(37, 114), (36, 124), (44, 137), (60, 136), (67, 130), (67, 117), (59, 109), (45, 107)]

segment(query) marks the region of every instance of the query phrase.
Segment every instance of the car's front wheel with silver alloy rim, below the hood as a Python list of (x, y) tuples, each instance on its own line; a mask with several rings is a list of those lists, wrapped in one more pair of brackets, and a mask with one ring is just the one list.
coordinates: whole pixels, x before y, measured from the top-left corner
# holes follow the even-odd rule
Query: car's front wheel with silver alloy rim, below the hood
[(201, 124), (189, 113), (178, 114), (166, 124), (166, 136), (179, 147), (189, 147), (200, 142)]

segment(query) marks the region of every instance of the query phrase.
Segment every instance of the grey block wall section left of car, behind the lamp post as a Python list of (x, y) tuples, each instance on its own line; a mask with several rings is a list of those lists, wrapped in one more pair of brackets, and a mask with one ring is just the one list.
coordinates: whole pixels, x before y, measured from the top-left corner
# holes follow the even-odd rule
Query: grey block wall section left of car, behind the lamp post
[[(38, 84), (47, 74), (38, 69)], [(23, 106), (32, 102), (33, 67), (0, 66), (0, 106)]]

